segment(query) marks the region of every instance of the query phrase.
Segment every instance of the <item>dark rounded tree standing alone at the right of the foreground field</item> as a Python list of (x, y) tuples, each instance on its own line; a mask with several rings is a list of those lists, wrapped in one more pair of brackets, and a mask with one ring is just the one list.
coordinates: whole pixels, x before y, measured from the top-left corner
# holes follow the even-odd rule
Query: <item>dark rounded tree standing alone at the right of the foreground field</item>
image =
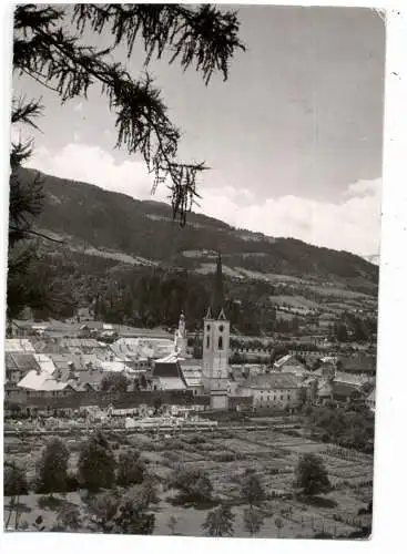
[(326, 468), (320, 458), (315, 454), (304, 454), (295, 470), (294, 486), (301, 489), (305, 496), (327, 493), (330, 483)]

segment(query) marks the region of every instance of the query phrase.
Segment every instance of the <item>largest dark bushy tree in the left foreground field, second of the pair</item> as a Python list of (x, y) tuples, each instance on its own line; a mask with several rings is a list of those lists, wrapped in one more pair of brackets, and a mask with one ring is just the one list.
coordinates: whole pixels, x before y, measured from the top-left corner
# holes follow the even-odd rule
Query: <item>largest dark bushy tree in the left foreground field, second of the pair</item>
[(106, 439), (96, 434), (82, 444), (78, 473), (89, 491), (109, 489), (114, 483), (115, 461)]

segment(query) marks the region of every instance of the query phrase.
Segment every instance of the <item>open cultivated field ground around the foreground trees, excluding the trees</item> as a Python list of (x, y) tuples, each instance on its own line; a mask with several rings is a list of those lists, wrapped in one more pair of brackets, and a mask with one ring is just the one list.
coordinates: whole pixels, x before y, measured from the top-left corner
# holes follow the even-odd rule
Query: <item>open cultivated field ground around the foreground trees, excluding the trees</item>
[[(207, 507), (172, 504), (175, 492), (167, 488), (167, 483), (180, 463), (204, 470), (212, 481), (214, 494), (233, 505), (236, 536), (246, 536), (242, 520), (245, 505), (242, 504), (240, 494), (241, 479), (246, 469), (257, 472), (269, 497), (264, 504), (264, 526), (257, 536), (278, 536), (276, 519), (283, 522), (279, 530), (282, 537), (307, 537), (318, 532), (327, 532), (334, 536), (346, 535), (366, 524), (366, 516), (363, 521), (357, 512), (372, 500), (372, 456), (339, 451), (327, 444), (291, 437), (273, 428), (257, 431), (231, 428), (227, 431), (200, 432), (200, 443), (194, 443), (191, 437), (110, 433), (109, 439), (118, 455), (130, 447), (136, 447), (149, 465), (149, 472), (160, 480), (160, 503), (154, 507), (154, 534), (169, 534), (170, 516), (177, 519), (180, 534), (203, 534), (201, 525), (206, 517)], [(83, 437), (72, 434), (67, 441), (71, 451), (71, 470), (75, 469), (81, 440)], [(28, 479), (32, 480), (35, 461), (44, 443), (43, 437), (6, 437), (4, 454), (8, 460), (14, 460), (27, 468)], [(305, 452), (323, 456), (334, 485), (334, 490), (327, 495), (306, 503), (292, 494), (294, 469), (299, 454)], [(40, 495), (37, 494), (21, 497), (20, 502), (26, 506), (21, 522), (32, 524), (39, 514), (44, 521), (52, 521), (55, 514), (40, 509), (39, 499)], [(81, 493), (68, 493), (64, 501), (82, 505)], [(7, 502), (6, 499), (6, 504)], [(4, 519), (7, 520), (7, 509)]]

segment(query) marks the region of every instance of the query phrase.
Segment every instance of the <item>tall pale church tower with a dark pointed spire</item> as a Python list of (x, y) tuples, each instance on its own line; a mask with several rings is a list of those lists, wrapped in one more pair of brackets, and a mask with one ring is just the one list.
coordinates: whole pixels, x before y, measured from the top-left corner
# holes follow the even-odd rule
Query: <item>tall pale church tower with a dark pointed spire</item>
[(211, 306), (204, 318), (202, 380), (211, 394), (211, 408), (226, 410), (228, 404), (230, 321), (224, 310), (222, 259), (217, 257)]

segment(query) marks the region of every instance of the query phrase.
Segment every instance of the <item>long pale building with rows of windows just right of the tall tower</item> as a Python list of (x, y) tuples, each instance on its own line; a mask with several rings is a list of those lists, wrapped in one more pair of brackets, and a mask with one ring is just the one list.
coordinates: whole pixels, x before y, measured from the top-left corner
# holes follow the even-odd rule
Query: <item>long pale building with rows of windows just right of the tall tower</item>
[(253, 376), (240, 387), (242, 396), (253, 397), (253, 408), (285, 409), (298, 406), (301, 384), (293, 373), (272, 372)]

